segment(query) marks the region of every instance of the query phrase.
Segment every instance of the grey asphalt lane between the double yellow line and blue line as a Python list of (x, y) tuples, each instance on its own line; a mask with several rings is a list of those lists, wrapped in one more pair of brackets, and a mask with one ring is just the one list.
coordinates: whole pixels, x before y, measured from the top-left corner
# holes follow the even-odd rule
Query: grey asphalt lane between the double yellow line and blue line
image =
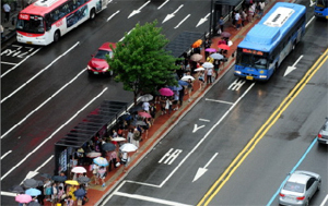
[[(321, 86), (327, 82), (325, 66), (327, 63), (315, 74), (314, 78), (236, 169), (214, 196), (211, 205), (268, 204), (286, 174), (311, 145), (327, 116), (327, 93), (326, 88)], [(313, 158), (311, 159), (313, 160)], [(317, 167), (323, 166), (323, 162), (314, 162), (317, 163)], [(327, 167), (324, 168), (327, 170)], [(307, 170), (311, 169), (307, 168)], [(231, 191), (234, 191), (233, 194)], [(235, 198), (236, 196), (238, 198)], [(278, 202), (273, 203), (278, 204)]]

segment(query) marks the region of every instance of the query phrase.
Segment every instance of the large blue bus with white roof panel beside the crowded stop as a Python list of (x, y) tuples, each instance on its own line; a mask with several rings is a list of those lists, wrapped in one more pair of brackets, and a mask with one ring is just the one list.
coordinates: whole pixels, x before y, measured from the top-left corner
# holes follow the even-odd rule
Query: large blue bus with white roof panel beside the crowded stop
[(278, 2), (237, 47), (234, 75), (268, 81), (305, 33), (306, 7)]

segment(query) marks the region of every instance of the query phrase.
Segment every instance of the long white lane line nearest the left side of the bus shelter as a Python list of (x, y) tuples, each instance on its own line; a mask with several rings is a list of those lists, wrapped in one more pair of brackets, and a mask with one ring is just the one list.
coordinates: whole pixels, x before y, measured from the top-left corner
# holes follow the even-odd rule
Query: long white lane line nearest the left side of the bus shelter
[(15, 168), (17, 168), (19, 166), (21, 166), (23, 162), (26, 161), (26, 159), (32, 156), (35, 152), (37, 152), (44, 144), (46, 144), (48, 141), (50, 141), (52, 138), (52, 136), (55, 136), (63, 126), (66, 126), (68, 123), (70, 123), (75, 117), (79, 116), (79, 113), (81, 113), (85, 108), (87, 108), (93, 101), (95, 101), (99, 96), (102, 96), (108, 87), (104, 88), (97, 96), (95, 96), (93, 99), (91, 99), (91, 101), (89, 101), (83, 108), (81, 108), (74, 116), (72, 116), (67, 122), (65, 122), (63, 124), (61, 124), (55, 132), (52, 132), (52, 134), (50, 136), (48, 136), (46, 140), (44, 140), (44, 142), (42, 142), (39, 145), (37, 145), (37, 147), (35, 147), (31, 153), (28, 153), (17, 165), (15, 165), (13, 168), (11, 168), (4, 175), (1, 177), (1, 181), (10, 174), (10, 172), (12, 172)]

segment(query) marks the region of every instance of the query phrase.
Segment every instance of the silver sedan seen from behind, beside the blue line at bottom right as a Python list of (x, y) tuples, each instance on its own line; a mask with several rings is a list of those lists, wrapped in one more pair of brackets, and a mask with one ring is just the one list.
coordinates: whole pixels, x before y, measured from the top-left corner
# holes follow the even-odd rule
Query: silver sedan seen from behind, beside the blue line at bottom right
[(305, 205), (320, 190), (321, 177), (309, 171), (294, 171), (279, 193), (280, 205)]

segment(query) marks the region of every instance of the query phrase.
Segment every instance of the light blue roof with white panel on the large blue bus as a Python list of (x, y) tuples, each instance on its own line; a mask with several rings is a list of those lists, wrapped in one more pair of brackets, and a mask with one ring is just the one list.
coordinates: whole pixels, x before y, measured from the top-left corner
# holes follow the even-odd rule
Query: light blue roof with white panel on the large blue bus
[(296, 3), (278, 2), (256, 24), (238, 45), (239, 48), (269, 52), (289, 32), (293, 23), (306, 12), (306, 7)]

